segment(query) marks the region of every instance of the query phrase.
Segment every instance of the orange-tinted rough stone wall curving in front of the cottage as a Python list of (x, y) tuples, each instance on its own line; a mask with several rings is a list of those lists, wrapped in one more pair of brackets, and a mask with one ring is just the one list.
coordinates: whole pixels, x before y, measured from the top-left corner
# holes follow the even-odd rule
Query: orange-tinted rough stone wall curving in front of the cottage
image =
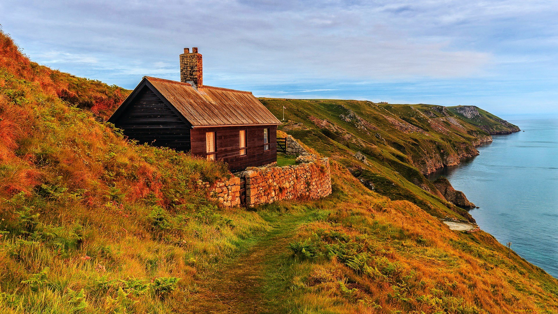
[(213, 185), (200, 184), (205, 184), (210, 189), (210, 197), (224, 207), (240, 205), (240, 178), (246, 179), (246, 206), (249, 207), (281, 199), (316, 199), (331, 194), (329, 159), (306, 158), (306, 161), (282, 167), (248, 167), (238, 177)]

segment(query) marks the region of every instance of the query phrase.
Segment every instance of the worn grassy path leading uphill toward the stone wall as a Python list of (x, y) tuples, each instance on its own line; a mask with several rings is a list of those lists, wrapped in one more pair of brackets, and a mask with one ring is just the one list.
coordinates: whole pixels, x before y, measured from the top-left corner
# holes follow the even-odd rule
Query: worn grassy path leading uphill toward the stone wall
[[(272, 229), (224, 269), (204, 278), (198, 297), (187, 304), (190, 313), (276, 313), (284, 291), (281, 268), (290, 251), (288, 242), (309, 213), (278, 216)], [(277, 280), (279, 279), (279, 280)], [(281, 280), (283, 279), (283, 280)]]

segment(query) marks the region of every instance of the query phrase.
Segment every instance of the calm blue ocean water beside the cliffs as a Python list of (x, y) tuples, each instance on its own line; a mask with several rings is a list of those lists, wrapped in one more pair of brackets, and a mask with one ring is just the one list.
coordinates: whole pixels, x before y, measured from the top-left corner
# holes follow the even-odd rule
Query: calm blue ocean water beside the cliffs
[(503, 117), (522, 131), (493, 136), (480, 155), (441, 169), (480, 208), (484, 231), (558, 278), (558, 118)]

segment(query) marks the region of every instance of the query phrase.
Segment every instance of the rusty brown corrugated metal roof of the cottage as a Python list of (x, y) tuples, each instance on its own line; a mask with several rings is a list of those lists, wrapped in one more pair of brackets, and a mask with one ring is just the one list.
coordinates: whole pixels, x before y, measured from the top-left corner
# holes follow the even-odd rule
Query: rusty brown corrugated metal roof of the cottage
[(193, 127), (233, 125), (280, 125), (251, 92), (202, 86), (144, 77)]

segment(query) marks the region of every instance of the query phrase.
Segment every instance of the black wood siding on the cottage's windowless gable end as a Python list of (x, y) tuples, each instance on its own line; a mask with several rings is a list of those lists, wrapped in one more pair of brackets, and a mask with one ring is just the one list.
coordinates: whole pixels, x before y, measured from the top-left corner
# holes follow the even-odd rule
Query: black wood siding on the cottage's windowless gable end
[(190, 150), (190, 126), (147, 87), (132, 99), (114, 125), (140, 144)]

